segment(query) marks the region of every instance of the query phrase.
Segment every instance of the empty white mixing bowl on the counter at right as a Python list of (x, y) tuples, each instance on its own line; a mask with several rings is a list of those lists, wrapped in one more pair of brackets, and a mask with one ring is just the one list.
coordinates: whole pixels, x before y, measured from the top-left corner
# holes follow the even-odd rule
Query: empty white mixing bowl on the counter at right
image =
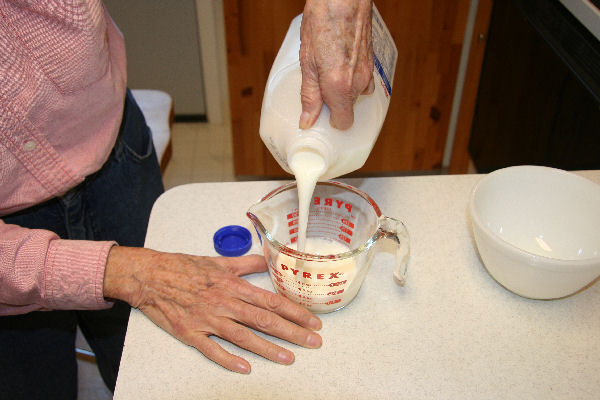
[(473, 189), (469, 212), (492, 277), (533, 299), (556, 299), (600, 275), (600, 185), (547, 167), (494, 171)]

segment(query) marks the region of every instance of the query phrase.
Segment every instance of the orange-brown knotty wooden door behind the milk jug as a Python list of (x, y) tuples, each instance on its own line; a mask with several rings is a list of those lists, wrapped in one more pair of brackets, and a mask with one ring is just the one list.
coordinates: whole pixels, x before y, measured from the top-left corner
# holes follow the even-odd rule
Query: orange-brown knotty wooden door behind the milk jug
[[(377, 0), (398, 47), (390, 108), (355, 175), (439, 170), (469, 0)], [(267, 77), (303, 0), (225, 0), (234, 168), (238, 177), (285, 176), (259, 136)]]

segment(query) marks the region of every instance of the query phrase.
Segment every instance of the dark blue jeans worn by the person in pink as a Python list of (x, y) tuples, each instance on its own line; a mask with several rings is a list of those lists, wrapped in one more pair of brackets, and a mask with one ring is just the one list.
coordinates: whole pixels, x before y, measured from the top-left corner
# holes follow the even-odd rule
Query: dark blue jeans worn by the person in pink
[[(115, 240), (141, 247), (150, 210), (163, 190), (149, 128), (128, 90), (119, 137), (102, 169), (64, 196), (3, 220), (48, 229), (63, 239)], [(129, 311), (129, 305), (116, 302), (108, 310), (0, 317), (0, 397), (75, 399), (77, 326), (114, 391)]]

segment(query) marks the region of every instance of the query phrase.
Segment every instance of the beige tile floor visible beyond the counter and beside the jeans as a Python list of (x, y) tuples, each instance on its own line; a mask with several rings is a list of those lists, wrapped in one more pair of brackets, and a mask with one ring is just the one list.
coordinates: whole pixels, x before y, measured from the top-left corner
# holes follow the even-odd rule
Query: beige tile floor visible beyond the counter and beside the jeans
[[(165, 190), (192, 182), (234, 181), (229, 125), (176, 123), (171, 132), (172, 156), (163, 173)], [(77, 347), (90, 350), (82, 335)], [(88, 357), (78, 357), (79, 400), (108, 400), (112, 394)]]

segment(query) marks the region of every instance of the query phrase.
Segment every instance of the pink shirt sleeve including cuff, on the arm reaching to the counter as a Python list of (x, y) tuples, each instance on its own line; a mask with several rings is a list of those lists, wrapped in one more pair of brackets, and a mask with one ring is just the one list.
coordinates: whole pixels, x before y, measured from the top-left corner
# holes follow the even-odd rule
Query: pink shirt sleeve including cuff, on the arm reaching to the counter
[(103, 282), (114, 245), (64, 240), (0, 220), (0, 315), (109, 308)]

